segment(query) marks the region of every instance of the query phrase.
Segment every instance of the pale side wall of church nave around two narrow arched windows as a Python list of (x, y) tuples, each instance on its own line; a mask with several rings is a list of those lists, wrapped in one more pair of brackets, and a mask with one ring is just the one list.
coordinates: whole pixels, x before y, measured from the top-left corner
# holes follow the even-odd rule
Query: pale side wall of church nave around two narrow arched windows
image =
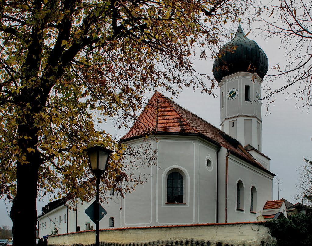
[[(222, 147), (219, 152), (219, 223), (225, 222), (226, 155), (227, 149)], [(241, 180), (244, 185), (244, 211), (236, 210), (238, 180)], [(230, 154), (228, 157), (227, 222), (256, 221), (266, 201), (272, 200), (272, 185), (273, 176)], [(252, 186), (255, 186), (257, 191), (257, 205), (253, 209), (257, 214), (250, 211)]]

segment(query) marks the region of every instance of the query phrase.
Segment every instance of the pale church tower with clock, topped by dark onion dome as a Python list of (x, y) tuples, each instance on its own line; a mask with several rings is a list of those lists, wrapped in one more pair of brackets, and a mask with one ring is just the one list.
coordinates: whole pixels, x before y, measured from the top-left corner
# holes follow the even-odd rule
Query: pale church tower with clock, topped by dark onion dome
[(262, 152), (261, 83), (268, 70), (266, 54), (244, 34), (241, 23), (213, 64), (220, 87), (221, 130), (243, 146)]

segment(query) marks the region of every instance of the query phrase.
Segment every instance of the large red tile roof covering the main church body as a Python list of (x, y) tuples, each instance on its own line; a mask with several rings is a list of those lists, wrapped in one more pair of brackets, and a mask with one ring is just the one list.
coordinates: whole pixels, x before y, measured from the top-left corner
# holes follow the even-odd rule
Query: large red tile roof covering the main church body
[(212, 124), (184, 109), (156, 91), (122, 142), (152, 134), (200, 136), (252, 165), (274, 175), (256, 161), (244, 147)]

